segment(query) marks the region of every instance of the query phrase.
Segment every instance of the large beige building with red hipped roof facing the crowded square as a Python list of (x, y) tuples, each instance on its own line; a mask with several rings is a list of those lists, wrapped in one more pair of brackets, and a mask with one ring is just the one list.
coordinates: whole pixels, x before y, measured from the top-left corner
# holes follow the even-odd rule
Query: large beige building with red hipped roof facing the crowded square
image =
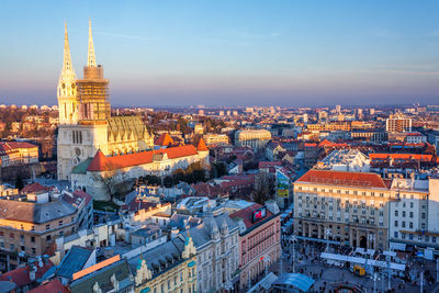
[(309, 170), (294, 182), (295, 235), (386, 249), (391, 183), (376, 173)]

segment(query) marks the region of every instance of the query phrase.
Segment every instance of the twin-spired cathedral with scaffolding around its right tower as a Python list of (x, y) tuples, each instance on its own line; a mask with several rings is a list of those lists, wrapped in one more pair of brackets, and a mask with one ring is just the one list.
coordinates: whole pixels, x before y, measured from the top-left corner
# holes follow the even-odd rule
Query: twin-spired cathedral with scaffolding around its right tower
[(65, 27), (64, 63), (57, 89), (59, 127), (57, 138), (58, 180), (71, 180), (80, 162), (98, 150), (116, 156), (153, 149), (154, 138), (139, 116), (111, 116), (109, 80), (97, 64), (89, 22), (88, 61), (83, 78), (77, 79)]

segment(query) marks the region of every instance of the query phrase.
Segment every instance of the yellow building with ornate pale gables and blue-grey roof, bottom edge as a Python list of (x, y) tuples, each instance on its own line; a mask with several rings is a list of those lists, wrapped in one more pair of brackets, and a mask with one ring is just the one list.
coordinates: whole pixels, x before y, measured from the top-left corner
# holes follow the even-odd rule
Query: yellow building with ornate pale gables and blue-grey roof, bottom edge
[(195, 293), (196, 249), (190, 236), (172, 240), (128, 260), (136, 293)]

